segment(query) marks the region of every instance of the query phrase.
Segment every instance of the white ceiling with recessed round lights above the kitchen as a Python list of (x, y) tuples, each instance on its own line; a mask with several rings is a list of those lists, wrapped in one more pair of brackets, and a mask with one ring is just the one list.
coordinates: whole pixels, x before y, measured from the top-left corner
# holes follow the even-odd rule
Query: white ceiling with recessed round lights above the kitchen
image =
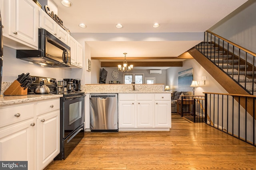
[[(91, 57), (178, 57), (247, 0), (61, 0), (58, 17)], [(154, 23), (160, 27), (152, 27)], [(86, 28), (78, 27), (79, 23)], [(123, 25), (118, 29), (117, 23)], [(81, 42), (81, 41), (80, 41)], [(108, 60), (109, 61), (109, 60)]]

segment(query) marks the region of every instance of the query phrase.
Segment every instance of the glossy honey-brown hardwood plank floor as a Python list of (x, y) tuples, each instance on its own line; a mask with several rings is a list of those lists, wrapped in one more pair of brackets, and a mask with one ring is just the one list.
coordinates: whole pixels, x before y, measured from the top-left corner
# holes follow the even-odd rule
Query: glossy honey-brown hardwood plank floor
[(172, 113), (168, 132), (85, 132), (66, 160), (46, 170), (256, 169), (256, 147)]

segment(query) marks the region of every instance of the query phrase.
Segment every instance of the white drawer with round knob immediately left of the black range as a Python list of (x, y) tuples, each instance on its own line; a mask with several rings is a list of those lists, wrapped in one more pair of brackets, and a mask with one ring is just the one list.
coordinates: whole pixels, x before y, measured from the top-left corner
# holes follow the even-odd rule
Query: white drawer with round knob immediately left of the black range
[(36, 108), (36, 115), (60, 109), (60, 99), (38, 102)]

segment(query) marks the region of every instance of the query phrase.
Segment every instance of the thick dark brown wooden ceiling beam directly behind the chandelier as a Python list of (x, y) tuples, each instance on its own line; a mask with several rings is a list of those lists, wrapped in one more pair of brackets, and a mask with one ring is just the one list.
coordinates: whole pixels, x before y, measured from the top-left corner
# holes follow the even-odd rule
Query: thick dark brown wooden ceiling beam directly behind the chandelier
[[(117, 67), (120, 62), (101, 62), (102, 67)], [(134, 67), (182, 67), (182, 61), (156, 61), (156, 62), (136, 62), (130, 61)]]

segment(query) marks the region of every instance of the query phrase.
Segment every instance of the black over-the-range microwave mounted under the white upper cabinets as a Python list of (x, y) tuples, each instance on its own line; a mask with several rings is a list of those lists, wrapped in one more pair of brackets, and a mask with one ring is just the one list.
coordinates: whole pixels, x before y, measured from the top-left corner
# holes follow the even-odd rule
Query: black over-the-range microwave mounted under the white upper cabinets
[(17, 50), (16, 58), (47, 67), (70, 67), (70, 47), (39, 28), (38, 50)]

